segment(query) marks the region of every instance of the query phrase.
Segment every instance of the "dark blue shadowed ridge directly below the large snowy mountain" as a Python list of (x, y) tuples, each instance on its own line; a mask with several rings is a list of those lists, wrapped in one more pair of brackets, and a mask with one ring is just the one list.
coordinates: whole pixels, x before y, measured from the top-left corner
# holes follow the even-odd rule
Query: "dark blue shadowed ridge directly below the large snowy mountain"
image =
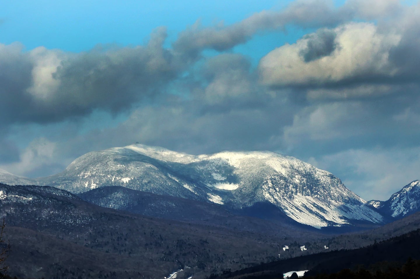
[(100, 187), (78, 196), (101, 207), (238, 231), (277, 234), (284, 229), (314, 230), (290, 219), (269, 202), (235, 210), (221, 204), (156, 195), (121, 186)]

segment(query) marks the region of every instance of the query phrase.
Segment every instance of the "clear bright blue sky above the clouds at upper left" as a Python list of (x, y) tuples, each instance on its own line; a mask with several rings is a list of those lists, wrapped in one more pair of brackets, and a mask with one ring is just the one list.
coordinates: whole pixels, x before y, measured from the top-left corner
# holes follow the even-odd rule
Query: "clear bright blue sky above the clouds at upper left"
[[(1, 4), (3, 44), (20, 42), (27, 50), (37, 46), (81, 52), (97, 44), (144, 44), (150, 32), (167, 26), (170, 39), (201, 20), (232, 24), (261, 10), (279, 10), (291, 1), (8, 1)], [(286, 36), (281, 36), (282, 39)], [(291, 40), (298, 37), (288, 35)], [(278, 41), (278, 42), (282, 42)], [(270, 41), (270, 40), (268, 40)], [(274, 41), (271, 44), (275, 43)]]

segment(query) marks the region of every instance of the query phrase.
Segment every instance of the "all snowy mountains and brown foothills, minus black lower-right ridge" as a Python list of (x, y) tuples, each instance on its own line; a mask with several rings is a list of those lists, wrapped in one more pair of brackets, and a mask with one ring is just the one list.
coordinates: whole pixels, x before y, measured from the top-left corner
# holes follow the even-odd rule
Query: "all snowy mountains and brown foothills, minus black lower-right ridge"
[(189, 155), (136, 144), (89, 152), (45, 178), (0, 171), (0, 183), (9, 274), (19, 278), (163, 278), (181, 269), (177, 278), (205, 278), (420, 227), (420, 181), (366, 202), (328, 171), (274, 152)]

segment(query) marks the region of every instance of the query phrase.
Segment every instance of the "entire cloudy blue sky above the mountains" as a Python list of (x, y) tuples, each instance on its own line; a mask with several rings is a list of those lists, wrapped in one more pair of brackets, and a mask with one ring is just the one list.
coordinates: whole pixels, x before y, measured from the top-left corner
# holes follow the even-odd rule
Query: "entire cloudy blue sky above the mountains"
[(3, 1), (0, 168), (270, 150), (387, 199), (420, 178), (418, 18), (397, 0)]

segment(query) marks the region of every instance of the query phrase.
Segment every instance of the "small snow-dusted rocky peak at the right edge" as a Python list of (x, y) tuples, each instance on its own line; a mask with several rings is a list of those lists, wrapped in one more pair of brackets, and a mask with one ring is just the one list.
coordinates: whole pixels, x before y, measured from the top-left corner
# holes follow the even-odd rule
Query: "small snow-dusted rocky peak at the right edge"
[(400, 191), (392, 194), (385, 201), (369, 201), (380, 212), (385, 215), (402, 218), (407, 214), (414, 213), (420, 209), (420, 181), (415, 180), (404, 186)]

